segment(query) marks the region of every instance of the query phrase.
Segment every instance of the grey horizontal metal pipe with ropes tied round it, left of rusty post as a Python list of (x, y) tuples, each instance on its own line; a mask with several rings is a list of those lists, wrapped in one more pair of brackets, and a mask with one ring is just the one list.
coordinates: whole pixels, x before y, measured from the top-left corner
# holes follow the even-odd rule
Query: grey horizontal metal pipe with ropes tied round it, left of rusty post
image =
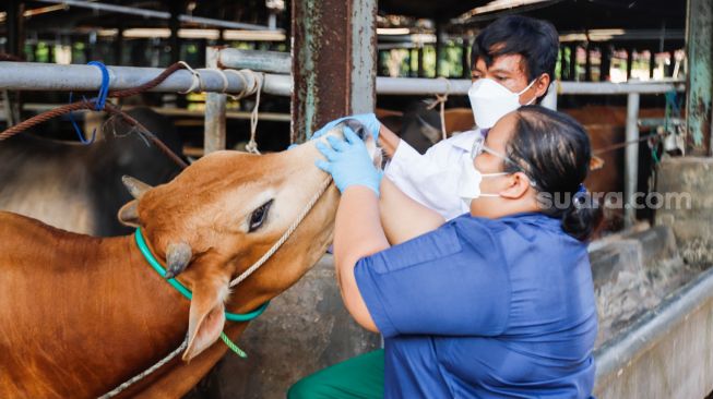
[[(107, 66), (112, 90), (136, 87), (158, 76), (164, 69)], [(199, 69), (204, 92), (223, 92), (221, 72)], [(243, 82), (233, 73), (225, 74), (226, 93), (240, 93)], [(189, 71), (177, 71), (152, 92), (186, 92), (193, 82)], [(12, 90), (95, 90), (102, 85), (102, 72), (92, 65), (59, 65), (38, 62), (0, 62), (0, 88)], [(285, 75), (266, 74), (263, 93), (289, 96), (292, 80)]]

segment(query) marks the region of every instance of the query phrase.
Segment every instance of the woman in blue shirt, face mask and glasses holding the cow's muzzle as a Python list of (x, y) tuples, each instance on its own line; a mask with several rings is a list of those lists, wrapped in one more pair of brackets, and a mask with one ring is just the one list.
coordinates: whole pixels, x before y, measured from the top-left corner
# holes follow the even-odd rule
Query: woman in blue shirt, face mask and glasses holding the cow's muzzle
[[(601, 211), (582, 190), (591, 158), (582, 126), (542, 107), (502, 118), (462, 165), (471, 213), (448, 222), (345, 135), (318, 144), (326, 158), (318, 166), (342, 192), (337, 281), (384, 351), (319, 372), (288, 396), (589, 398), (597, 327), (585, 240)], [(401, 222), (382, 226), (380, 207)]]

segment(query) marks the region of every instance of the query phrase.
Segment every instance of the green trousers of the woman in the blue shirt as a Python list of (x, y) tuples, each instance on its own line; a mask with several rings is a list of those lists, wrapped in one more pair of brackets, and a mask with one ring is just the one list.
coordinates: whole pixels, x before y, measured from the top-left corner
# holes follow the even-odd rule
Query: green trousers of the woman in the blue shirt
[(298, 380), (287, 391), (287, 398), (383, 398), (383, 349), (348, 359)]

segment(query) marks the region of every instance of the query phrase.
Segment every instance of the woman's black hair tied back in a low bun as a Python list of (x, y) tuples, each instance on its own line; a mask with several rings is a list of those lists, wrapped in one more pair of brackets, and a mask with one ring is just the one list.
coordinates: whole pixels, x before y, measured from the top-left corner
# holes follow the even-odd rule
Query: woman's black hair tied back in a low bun
[(508, 142), (507, 172), (524, 172), (534, 183), (542, 211), (562, 220), (578, 240), (589, 239), (602, 221), (602, 208), (582, 190), (592, 158), (590, 137), (571, 117), (539, 106), (515, 111), (516, 126)]

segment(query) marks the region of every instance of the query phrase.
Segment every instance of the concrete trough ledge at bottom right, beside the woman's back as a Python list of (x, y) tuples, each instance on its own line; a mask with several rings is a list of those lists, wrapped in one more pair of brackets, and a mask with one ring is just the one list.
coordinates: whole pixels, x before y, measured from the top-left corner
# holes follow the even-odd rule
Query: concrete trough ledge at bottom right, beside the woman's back
[(598, 398), (704, 398), (713, 390), (713, 269), (595, 352)]

